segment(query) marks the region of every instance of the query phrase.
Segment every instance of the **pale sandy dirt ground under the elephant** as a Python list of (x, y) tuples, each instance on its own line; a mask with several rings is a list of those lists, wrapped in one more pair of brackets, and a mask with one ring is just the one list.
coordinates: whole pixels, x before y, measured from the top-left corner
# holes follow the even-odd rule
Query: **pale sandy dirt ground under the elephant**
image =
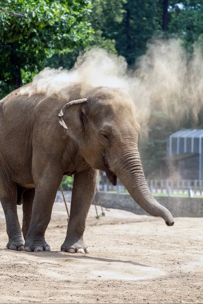
[[(21, 206), (18, 207), (22, 218)], [(99, 213), (100, 210), (98, 209)], [(60, 252), (66, 233), (63, 203), (55, 203), (46, 240), (51, 252), (5, 249), (0, 209), (2, 303), (203, 302), (202, 218), (162, 219), (91, 206), (85, 242), (90, 253)]]

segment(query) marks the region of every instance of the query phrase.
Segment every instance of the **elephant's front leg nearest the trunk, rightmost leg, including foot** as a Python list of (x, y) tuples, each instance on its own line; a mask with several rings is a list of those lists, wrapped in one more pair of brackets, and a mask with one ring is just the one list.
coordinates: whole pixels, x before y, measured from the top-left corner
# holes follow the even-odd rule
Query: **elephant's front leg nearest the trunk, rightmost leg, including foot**
[(62, 251), (88, 253), (88, 248), (83, 242), (83, 233), (97, 178), (98, 171), (92, 168), (74, 176), (70, 220), (65, 241), (61, 246)]

